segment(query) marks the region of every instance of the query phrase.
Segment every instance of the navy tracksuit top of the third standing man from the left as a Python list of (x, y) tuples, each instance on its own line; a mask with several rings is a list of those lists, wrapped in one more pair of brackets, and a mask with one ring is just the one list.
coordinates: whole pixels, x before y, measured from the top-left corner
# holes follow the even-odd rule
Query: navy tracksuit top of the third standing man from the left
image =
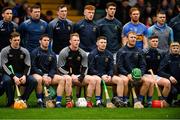
[(55, 18), (49, 23), (50, 36), (53, 39), (52, 49), (56, 54), (69, 46), (70, 34), (72, 33), (72, 21)]

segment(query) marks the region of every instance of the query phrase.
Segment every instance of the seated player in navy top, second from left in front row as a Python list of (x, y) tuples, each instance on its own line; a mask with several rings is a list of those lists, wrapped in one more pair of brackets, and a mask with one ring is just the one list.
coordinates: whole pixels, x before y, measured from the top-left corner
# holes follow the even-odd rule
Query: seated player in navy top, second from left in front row
[(56, 107), (61, 107), (61, 99), (64, 92), (64, 77), (57, 74), (56, 54), (48, 49), (50, 38), (42, 35), (39, 40), (40, 46), (31, 53), (32, 75), (38, 81), (36, 95), (38, 106), (44, 107), (43, 84), (45, 86), (57, 85)]

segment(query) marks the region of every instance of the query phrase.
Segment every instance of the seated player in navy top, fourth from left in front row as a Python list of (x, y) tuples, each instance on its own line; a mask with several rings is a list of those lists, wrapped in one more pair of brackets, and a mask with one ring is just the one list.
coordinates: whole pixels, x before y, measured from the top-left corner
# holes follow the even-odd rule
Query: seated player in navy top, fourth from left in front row
[[(117, 85), (117, 96), (120, 101), (123, 101), (123, 80), (116, 75), (113, 75), (113, 55), (106, 49), (107, 38), (100, 36), (96, 42), (97, 48), (92, 50), (88, 56), (88, 74), (96, 80), (96, 106), (101, 107), (101, 80), (107, 84)], [(120, 103), (122, 104), (122, 103)]]

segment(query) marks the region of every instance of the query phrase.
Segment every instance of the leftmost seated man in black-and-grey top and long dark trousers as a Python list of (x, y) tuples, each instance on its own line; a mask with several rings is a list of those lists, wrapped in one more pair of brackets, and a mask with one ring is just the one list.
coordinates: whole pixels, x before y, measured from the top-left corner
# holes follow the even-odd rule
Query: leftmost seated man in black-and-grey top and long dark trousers
[[(25, 102), (37, 86), (37, 81), (29, 75), (31, 67), (29, 52), (20, 46), (20, 41), (19, 33), (11, 33), (10, 45), (1, 51), (2, 80), (8, 97), (7, 106), (11, 106), (14, 103), (14, 84), (25, 86), (24, 93), (21, 96), (21, 99)], [(13, 74), (9, 65), (12, 65), (15, 74)]]

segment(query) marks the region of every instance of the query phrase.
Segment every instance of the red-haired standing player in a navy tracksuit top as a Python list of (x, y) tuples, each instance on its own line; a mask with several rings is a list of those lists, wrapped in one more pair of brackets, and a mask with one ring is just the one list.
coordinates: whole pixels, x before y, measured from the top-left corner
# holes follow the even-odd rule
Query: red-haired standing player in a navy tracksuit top
[(86, 5), (84, 7), (84, 19), (74, 26), (74, 32), (77, 32), (80, 36), (80, 48), (86, 52), (96, 48), (96, 39), (99, 36), (98, 27), (93, 21), (94, 13), (95, 7)]

